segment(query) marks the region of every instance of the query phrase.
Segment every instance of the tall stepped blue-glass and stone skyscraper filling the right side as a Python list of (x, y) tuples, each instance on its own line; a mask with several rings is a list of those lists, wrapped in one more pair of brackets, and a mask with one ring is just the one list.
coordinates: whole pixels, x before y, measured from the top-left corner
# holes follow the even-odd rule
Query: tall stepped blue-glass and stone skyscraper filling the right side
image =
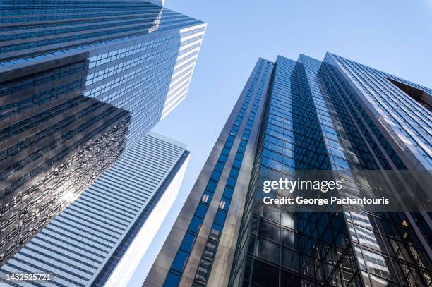
[(430, 183), (431, 94), (330, 53), (259, 59), (143, 286), (431, 286), (427, 185), (424, 209), (387, 213), (296, 212), (260, 185), (331, 171), (356, 198), (375, 192), (361, 171)]

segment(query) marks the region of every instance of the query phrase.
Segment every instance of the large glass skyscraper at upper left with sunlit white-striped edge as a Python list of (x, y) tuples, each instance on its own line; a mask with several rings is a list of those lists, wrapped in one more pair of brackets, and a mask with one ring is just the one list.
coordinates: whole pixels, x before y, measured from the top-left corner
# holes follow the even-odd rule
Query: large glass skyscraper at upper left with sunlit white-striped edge
[(147, 1), (1, 1), (0, 265), (186, 97), (204, 31)]

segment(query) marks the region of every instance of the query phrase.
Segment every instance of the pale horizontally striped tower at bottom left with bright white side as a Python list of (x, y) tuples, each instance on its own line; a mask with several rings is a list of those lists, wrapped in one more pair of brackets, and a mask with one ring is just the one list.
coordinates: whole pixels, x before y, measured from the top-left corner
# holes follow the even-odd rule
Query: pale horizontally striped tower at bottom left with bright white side
[(188, 160), (186, 145), (144, 135), (0, 272), (49, 272), (47, 286), (126, 286), (141, 259), (155, 259), (160, 226), (174, 223), (166, 216)]

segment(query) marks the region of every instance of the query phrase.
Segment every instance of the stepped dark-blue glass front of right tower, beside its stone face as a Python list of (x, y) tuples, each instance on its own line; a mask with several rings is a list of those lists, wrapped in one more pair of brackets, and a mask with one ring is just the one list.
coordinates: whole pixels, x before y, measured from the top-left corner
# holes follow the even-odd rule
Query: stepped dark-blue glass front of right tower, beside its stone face
[(428, 214), (292, 213), (262, 203), (263, 173), (344, 171), (344, 193), (355, 198), (373, 195), (357, 170), (407, 169), (335, 66), (279, 57), (273, 77), (230, 286), (431, 286), (431, 229), (414, 218)]

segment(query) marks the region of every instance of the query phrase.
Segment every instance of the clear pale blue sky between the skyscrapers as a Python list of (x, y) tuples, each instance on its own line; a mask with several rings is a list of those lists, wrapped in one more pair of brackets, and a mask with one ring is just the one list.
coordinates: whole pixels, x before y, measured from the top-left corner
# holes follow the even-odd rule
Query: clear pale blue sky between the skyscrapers
[(188, 96), (153, 129), (191, 151), (184, 196), (258, 57), (323, 59), (330, 51), (432, 87), (432, 0), (166, 0), (165, 6), (208, 23)]

